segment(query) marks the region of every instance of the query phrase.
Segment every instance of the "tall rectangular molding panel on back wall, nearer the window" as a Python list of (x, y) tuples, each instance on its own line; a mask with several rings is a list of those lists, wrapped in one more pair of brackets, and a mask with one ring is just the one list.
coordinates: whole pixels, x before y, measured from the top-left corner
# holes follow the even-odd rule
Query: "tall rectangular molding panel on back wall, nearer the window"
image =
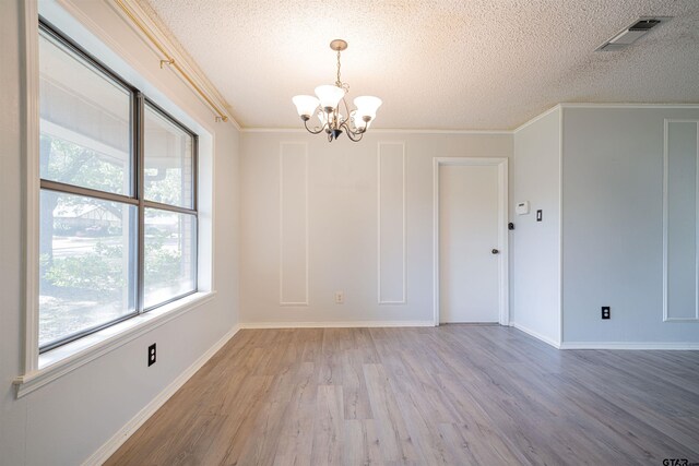
[[(285, 147), (292, 147), (295, 146), (297, 148), (301, 148), (299, 154), (303, 154), (300, 157), (299, 154), (294, 154), (293, 152), (285, 152)], [(292, 191), (296, 191), (294, 188), (289, 188), (291, 183), (294, 181), (292, 179), (286, 180), (285, 182), (285, 164), (284, 164), (284, 158), (288, 158), (288, 157), (297, 157), (300, 160), (296, 160), (295, 164), (289, 164), (288, 166), (292, 168), (296, 168), (298, 169), (300, 167), (300, 169), (303, 170), (303, 176), (304, 176), (304, 180), (303, 180), (303, 184), (300, 186), (300, 190), (303, 191), (303, 196), (304, 196), (304, 201), (303, 201), (303, 205), (301, 205), (301, 210), (303, 213), (299, 212), (286, 212), (286, 207), (285, 204), (289, 202), (289, 199), (292, 199), (292, 196), (289, 195), (289, 192)], [(300, 164), (299, 164), (300, 163)], [(298, 181), (298, 180), (295, 180)], [(295, 188), (299, 188), (298, 186)], [(289, 190), (291, 191), (286, 191)], [(303, 224), (304, 226), (304, 237), (300, 239), (300, 241), (298, 241), (297, 238), (297, 243), (294, 248), (285, 248), (284, 244), (285, 242), (289, 239), (288, 235), (287, 235), (287, 230), (291, 228), (286, 228), (286, 222), (291, 220), (291, 225), (298, 225), (298, 224)], [(308, 266), (308, 143), (306, 142), (282, 142), (280, 143), (280, 306), (308, 306), (309, 304), (309, 297), (308, 297), (308, 278), (309, 278), (309, 266)], [(304, 278), (304, 290), (303, 290), (303, 299), (287, 299), (287, 294), (285, 291), (288, 291), (285, 289), (285, 286), (287, 285), (285, 283), (285, 279), (287, 276), (294, 276), (294, 277), (298, 277), (299, 275), (297, 273), (286, 273), (285, 274), (285, 268), (287, 266), (289, 267), (294, 267), (294, 266), (298, 266), (299, 264), (291, 264), (287, 263), (287, 258), (286, 258), (286, 252), (288, 251), (288, 253), (292, 252), (297, 252), (300, 248), (303, 248), (304, 252), (303, 252), (303, 256), (304, 256), (304, 264), (301, 265), (301, 268), (304, 270), (301, 276)]]

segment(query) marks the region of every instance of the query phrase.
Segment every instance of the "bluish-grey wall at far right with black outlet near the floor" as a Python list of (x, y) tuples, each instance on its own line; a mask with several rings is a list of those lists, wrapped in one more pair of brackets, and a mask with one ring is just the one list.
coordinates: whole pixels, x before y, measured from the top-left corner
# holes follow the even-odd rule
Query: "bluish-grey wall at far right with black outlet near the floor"
[(699, 342), (699, 323), (663, 322), (665, 118), (699, 108), (564, 109), (565, 344)]

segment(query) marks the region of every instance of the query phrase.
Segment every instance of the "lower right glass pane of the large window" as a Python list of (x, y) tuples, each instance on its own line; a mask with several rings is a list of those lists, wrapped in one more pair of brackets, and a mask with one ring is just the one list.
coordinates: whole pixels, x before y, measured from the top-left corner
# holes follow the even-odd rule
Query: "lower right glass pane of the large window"
[(197, 289), (197, 217), (146, 208), (144, 249), (144, 308)]

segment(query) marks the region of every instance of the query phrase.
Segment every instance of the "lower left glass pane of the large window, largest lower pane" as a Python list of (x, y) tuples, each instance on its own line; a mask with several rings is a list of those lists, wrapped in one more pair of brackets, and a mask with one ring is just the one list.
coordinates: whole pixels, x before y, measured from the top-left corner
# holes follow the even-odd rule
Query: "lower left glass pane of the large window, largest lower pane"
[(39, 346), (135, 309), (137, 208), (42, 190)]

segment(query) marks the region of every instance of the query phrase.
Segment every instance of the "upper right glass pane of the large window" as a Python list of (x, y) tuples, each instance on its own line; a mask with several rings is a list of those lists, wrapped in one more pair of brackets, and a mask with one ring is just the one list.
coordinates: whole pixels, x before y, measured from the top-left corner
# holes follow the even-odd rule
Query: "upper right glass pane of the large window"
[(145, 199), (193, 207), (192, 136), (145, 106)]

